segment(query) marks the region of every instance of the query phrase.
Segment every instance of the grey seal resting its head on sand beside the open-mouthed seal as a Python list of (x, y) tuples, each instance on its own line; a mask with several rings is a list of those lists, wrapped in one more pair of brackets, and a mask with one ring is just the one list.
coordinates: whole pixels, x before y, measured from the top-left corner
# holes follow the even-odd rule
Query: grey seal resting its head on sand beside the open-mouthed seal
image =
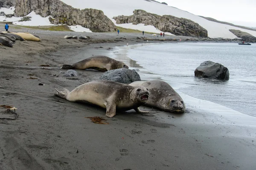
[(158, 108), (166, 112), (183, 113), (185, 103), (179, 94), (162, 80), (148, 80), (132, 82), (132, 86), (143, 86), (149, 89), (150, 97), (144, 105)]

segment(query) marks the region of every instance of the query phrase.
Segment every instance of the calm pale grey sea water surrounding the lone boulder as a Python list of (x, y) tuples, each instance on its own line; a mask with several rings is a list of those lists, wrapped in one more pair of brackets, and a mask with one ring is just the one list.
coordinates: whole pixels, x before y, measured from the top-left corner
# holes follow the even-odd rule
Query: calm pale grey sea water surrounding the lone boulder
[[(113, 58), (137, 69), (141, 79), (162, 79), (179, 94), (256, 116), (256, 44), (148, 43), (119, 47), (117, 51)], [(207, 60), (226, 66), (230, 79), (194, 77), (195, 68)]]

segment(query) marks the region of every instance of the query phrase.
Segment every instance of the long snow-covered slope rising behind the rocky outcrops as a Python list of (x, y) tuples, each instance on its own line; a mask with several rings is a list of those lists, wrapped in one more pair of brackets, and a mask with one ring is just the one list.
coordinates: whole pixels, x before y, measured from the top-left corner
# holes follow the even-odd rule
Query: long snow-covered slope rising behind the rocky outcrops
[[(117, 17), (119, 15), (125, 15), (125, 16), (130, 16), (133, 14), (133, 11), (135, 9), (142, 9), (145, 10), (149, 13), (157, 14), (157, 15), (172, 15), (175, 17), (183, 17), (189, 20), (194, 21), (195, 23), (198, 23), (200, 26), (203, 28), (207, 29), (208, 31), (208, 37), (211, 38), (237, 38), (236, 35), (231, 33), (229, 29), (236, 29), (236, 30), (241, 30), (244, 32), (247, 32), (249, 34), (252, 34), (253, 36), (256, 37), (256, 31), (252, 30), (247, 30), (244, 28), (238, 28), (235, 26), (230, 26), (222, 23), (216, 23), (212, 22), (209, 20), (206, 20), (202, 17), (199, 17), (197, 15), (191, 14), (189, 12), (180, 10), (178, 8), (174, 8), (171, 6), (167, 6), (161, 3), (157, 3), (154, 1), (150, 0), (128, 0), (128, 1), (123, 1), (123, 0), (61, 0), (62, 2), (66, 3), (67, 5), (70, 5), (74, 8), (94, 8), (94, 9), (99, 9), (104, 12), (104, 14), (115, 23), (116, 26), (120, 26), (123, 28), (132, 28), (132, 29), (137, 29), (140, 31), (147, 31), (147, 32), (154, 32), (154, 33), (160, 33), (160, 30), (157, 30), (154, 28), (154, 26), (144, 26), (144, 24), (138, 24), (138, 25), (132, 25), (131, 23), (129, 24), (116, 24), (116, 21), (113, 19), (113, 17)], [(172, 5), (172, 4), (169, 4)], [(0, 9), (2, 11), (3, 8)], [(34, 14), (35, 15), (35, 14)], [(3, 21), (3, 18), (0, 16), (0, 21)], [(38, 20), (38, 17), (36, 17)], [(8, 21), (8, 18), (5, 18), (6, 21)], [(11, 19), (10, 19), (11, 20)], [(32, 18), (33, 20), (33, 18)], [(13, 21), (13, 20), (12, 20)], [(35, 24), (34, 22), (33, 25)], [(16, 22), (15, 24), (18, 24)], [(23, 25), (26, 25), (26, 22), (22, 23)], [(38, 25), (40, 25), (38, 23)], [(44, 20), (44, 25), (45, 20)], [(49, 23), (49, 25), (52, 25)], [(82, 29), (80, 29), (82, 30)], [(82, 31), (88, 31), (88, 30), (82, 30)]]

